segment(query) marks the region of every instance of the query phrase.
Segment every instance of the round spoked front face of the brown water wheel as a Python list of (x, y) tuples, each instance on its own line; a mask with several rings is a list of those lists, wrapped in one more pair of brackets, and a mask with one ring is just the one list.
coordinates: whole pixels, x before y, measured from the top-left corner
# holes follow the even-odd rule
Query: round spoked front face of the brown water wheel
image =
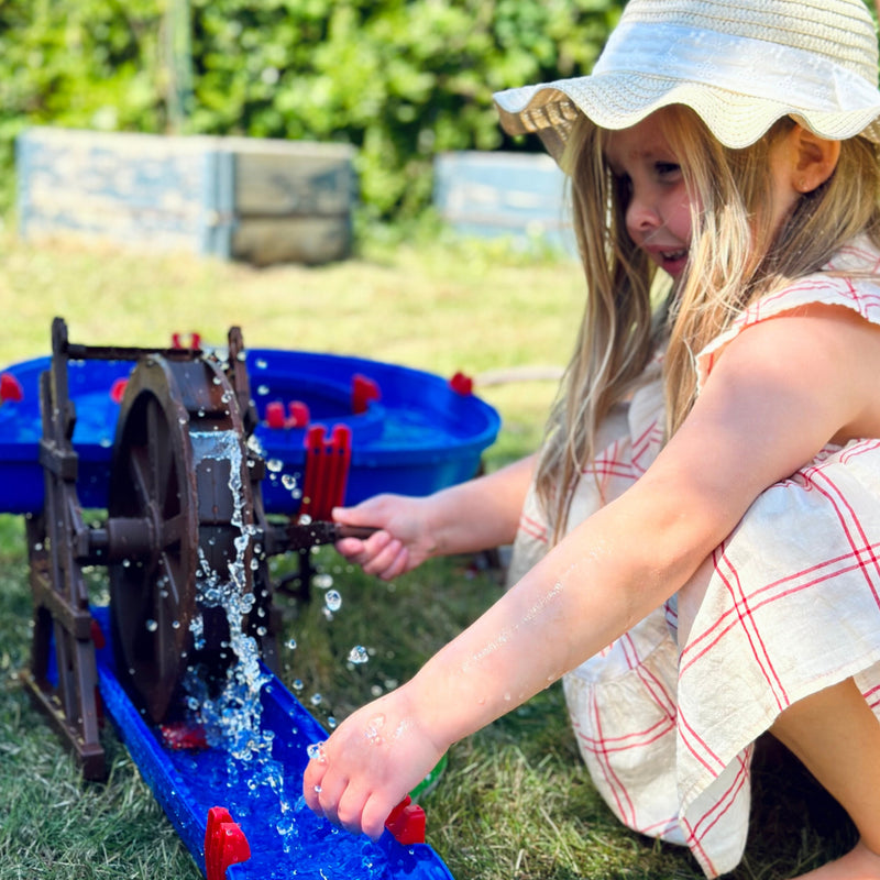
[(196, 608), (198, 521), (188, 425), (169, 364), (139, 364), (122, 402), (108, 514), (111, 521), (142, 520), (148, 549), (110, 566), (110, 602), (120, 680), (153, 722), (165, 716), (186, 668)]

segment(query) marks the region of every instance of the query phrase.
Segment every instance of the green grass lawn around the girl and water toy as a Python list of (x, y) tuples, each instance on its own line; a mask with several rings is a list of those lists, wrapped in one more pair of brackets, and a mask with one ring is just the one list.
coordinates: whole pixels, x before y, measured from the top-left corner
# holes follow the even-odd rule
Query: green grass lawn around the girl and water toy
[[(135, 257), (70, 246), (34, 249), (0, 235), (0, 363), (48, 351), (52, 317), (77, 342), (164, 345), (175, 331), (222, 340), (230, 324), (251, 346), (351, 353), (444, 375), (564, 363), (580, 310), (565, 262), (501, 248), (430, 244), (369, 250), (332, 266), (253, 270), (185, 257)], [(530, 451), (553, 394), (548, 382), (477, 384), (505, 427), (490, 468)], [(302, 682), (322, 722), (411, 675), (499, 595), (471, 559), (435, 560), (393, 584), (317, 557), (343, 597), (328, 620), (278, 596), (283, 679)], [(278, 573), (287, 560), (275, 561)], [(84, 782), (31, 705), (16, 673), (28, 662), (30, 593), (21, 517), (0, 516), (0, 880), (199, 877), (112, 728), (106, 783)], [(350, 668), (355, 644), (370, 661)], [(737, 880), (778, 880), (846, 846), (849, 831), (778, 752), (767, 772)], [(458, 880), (698, 878), (682, 850), (619, 826), (581, 763), (559, 686), (458, 744), (425, 798), (428, 842)]]

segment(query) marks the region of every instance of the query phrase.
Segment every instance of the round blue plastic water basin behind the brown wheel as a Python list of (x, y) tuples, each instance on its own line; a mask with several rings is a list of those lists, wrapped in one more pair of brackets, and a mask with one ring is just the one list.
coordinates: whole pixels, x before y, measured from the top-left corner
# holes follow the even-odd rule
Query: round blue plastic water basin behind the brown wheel
[[(0, 510), (43, 507), (38, 448), (40, 375), (50, 358), (6, 367), (21, 399), (0, 406)], [(268, 513), (293, 515), (300, 506), (310, 427), (350, 430), (351, 464), (345, 503), (378, 492), (427, 495), (473, 476), (498, 433), (496, 410), (466, 385), (410, 367), (363, 358), (250, 349), (246, 365), (260, 425), (256, 441), (270, 464), (263, 485)], [(132, 370), (125, 361), (72, 361), (70, 398), (77, 420), (78, 492), (85, 507), (107, 504), (119, 388)], [(298, 414), (292, 418), (290, 411)], [(283, 414), (272, 427), (273, 414)], [(293, 486), (293, 488), (292, 488)]]

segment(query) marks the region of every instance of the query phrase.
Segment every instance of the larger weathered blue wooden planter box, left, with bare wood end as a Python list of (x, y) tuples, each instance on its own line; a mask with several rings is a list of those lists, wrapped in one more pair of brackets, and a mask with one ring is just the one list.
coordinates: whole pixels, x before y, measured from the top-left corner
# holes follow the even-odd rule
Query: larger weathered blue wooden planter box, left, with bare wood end
[(141, 251), (324, 263), (351, 248), (353, 147), (33, 128), (15, 145), (20, 231)]

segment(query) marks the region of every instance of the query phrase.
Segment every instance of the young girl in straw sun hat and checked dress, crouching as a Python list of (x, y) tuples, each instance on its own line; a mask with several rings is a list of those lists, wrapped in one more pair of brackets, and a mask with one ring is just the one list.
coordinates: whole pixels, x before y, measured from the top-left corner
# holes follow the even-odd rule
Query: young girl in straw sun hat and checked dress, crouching
[(809, 877), (880, 878), (877, 64), (862, 0), (630, 0), (592, 76), (496, 96), (571, 176), (580, 338), (539, 455), (336, 512), (383, 578), (516, 536), (514, 585), (339, 726), (314, 810), (377, 836), (564, 676), (630, 827), (734, 868), (770, 730), (860, 835)]

